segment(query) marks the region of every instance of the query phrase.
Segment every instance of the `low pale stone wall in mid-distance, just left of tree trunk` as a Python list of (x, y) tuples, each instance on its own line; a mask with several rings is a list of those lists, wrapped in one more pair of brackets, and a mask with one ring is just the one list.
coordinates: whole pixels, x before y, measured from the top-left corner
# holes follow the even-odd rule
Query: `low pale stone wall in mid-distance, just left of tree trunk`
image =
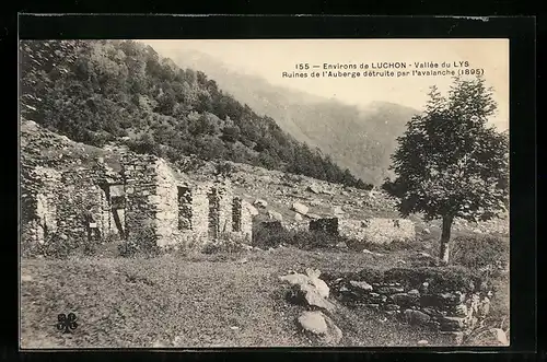
[(377, 244), (416, 237), (415, 224), (407, 219), (340, 219), (338, 230), (340, 236)]

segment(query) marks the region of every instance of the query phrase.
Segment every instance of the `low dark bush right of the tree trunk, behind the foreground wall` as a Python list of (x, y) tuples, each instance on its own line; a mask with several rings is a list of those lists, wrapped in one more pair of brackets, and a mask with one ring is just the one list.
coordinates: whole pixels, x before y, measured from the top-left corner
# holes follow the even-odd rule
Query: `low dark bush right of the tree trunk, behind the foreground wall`
[(451, 262), (474, 270), (503, 269), (509, 265), (509, 241), (492, 236), (455, 237)]

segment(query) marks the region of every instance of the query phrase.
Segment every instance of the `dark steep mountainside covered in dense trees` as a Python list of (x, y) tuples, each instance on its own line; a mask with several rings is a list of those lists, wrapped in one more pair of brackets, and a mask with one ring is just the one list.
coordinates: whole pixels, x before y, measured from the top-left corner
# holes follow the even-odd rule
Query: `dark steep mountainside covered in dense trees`
[(132, 40), (20, 44), (21, 114), (75, 141), (123, 142), (176, 162), (221, 159), (369, 188), (329, 155)]

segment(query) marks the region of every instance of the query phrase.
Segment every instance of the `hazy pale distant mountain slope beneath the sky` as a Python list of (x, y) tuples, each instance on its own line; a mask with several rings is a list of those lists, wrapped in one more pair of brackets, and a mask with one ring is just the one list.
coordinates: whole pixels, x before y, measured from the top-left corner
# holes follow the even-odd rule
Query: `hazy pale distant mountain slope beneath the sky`
[(210, 74), (236, 100), (276, 120), (302, 142), (319, 148), (368, 183), (380, 185), (388, 175), (389, 156), (406, 122), (419, 113), (395, 103), (376, 102), (366, 107), (272, 85), (266, 80), (231, 71), (205, 54), (172, 50), (174, 61)]

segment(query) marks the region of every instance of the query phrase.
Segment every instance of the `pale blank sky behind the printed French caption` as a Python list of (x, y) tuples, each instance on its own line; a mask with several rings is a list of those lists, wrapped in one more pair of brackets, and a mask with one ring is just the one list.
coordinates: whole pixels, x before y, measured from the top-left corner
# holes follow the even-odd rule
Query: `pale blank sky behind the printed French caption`
[[(283, 78), (298, 63), (468, 61), (469, 69), (482, 69), (487, 85), (493, 87), (498, 113), (492, 117), (500, 130), (509, 129), (509, 39), (184, 39), (141, 40), (161, 56), (176, 58), (179, 50), (200, 51), (222, 61), (232, 71), (258, 75), (275, 85), (366, 106), (371, 102), (393, 102), (422, 109), (431, 85), (441, 92), (450, 77), (394, 78)], [(410, 66), (411, 65), (411, 66)], [(313, 68), (312, 68), (313, 69)], [(322, 68), (314, 69), (323, 71)], [(371, 69), (369, 69), (371, 70)], [(438, 69), (439, 70), (439, 69)], [(358, 69), (357, 71), (363, 71)], [(394, 69), (396, 72), (397, 70)]]

